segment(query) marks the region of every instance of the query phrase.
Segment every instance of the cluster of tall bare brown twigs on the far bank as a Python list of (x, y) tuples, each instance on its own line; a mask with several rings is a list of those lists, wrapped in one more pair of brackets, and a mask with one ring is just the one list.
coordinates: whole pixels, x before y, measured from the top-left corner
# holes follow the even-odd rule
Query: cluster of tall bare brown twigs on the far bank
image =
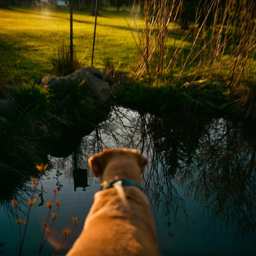
[[(188, 3), (194, 3), (189, 12)], [(220, 76), (231, 88), (253, 79), (255, 1), (145, 0), (142, 31), (138, 13), (133, 8), (127, 21), (140, 53), (136, 78), (148, 76), (156, 84), (170, 85), (188, 76)], [(189, 26), (184, 26), (186, 15), (193, 16), (185, 17), (186, 24), (192, 20)]]

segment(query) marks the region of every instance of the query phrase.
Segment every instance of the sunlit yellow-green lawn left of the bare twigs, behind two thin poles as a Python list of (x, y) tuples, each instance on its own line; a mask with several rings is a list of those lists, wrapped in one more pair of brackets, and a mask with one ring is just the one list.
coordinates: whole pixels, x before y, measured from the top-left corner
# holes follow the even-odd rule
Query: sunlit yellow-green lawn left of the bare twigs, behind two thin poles
[[(130, 13), (117, 13), (114, 8), (108, 8), (100, 14), (94, 66), (104, 68), (104, 59), (110, 57), (119, 70), (126, 71), (136, 56), (136, 45), (124, 18), (129, 20)], [(63, 40), (69, 43), (69, 19), (68, 10), (0, 9), (1, 76), (8, 80), (17, 72), (25, 79), (51, 75), (49, 57)], [(90, 66), (95, 18), (89, 12), (75, 11), (73, 19), (75, 52), (83, 66)], [(143, 19), (139, 20), (139, 26), (142, 28)]]

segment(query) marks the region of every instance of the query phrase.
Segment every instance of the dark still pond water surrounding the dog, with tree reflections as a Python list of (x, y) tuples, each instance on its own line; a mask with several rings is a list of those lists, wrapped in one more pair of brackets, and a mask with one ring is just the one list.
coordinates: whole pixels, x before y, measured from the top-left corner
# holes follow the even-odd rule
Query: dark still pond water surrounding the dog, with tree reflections
[[(71, 216), (78, 216), (78, 225), (58, 254), (65, 255), (80, 234), (93, 195), (100, 188), (87, 159), (103, 148), (117, 147), (137, 148), (148, 157), (143, 190), (156, 221), (162, 255), (256, 255), (254, 132), (225, 119), (158, 118), (113, 107), (110, 118), (98, 129), (77, 143), (67, 140), (56, 154), (48, 156), (48, 179), (38, 186), (22, 255), (38, 255), (48, 214), (46, 202), (52, 200), (57, 170), (62, 173), (56, 198), (60, 210), (41, 255), (52, 255), (52, 248), (63, 240), (63, 228), (71, 228)], [(69, 156), (67, 149), (72, 152)], [(62, 150), (63, 157), (54, 157), (62, 156)], [(27, 213), (26, 199), (31, 196), (30, 175), (37, 173), (34, 164), (31, 166), (29, 174), (10, 170), (1, 178), (3, 255), (18, 255), (19, 230), (11, 200), (15, 198), (20, 217), (26, 219), (22, 211)], [(21, 223), (22, 230), (24, 226)]]

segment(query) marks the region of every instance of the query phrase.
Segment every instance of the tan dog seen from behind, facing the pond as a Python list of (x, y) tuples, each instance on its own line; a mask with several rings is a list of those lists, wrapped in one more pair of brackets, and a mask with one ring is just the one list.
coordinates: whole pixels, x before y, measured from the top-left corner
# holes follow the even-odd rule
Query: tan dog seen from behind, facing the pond
[[(137, 150), (103, 150), (88, 159), (102, 183), (129, 179), (141, 184), (147, 158)], [(157, 237), (148, 200), (136, 186), (123, 186), (128, 206), (116, 188), (97, 192), (82, 233), (67, 256), (155, 256)]]

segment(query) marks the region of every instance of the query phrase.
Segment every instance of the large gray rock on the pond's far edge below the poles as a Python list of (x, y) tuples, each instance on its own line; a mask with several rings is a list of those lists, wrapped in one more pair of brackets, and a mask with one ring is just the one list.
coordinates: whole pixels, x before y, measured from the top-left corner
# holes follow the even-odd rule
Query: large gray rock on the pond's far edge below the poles
[(43, 77), (42, 86), (48, 87), (53, 92), (60, 90), (61, 84), (65, 84), (68, 80), (74, 80), (80, 82), (82, 86), (85, 86), (93, 93), (93, 98), (97, 105), (102, 105), (107, 102), (111, 97), (111, 90), (108, 84), (104, 81), (104, 78), (97, 68), (80, 68), (74, 73), (68, 76), (60, 77)]

